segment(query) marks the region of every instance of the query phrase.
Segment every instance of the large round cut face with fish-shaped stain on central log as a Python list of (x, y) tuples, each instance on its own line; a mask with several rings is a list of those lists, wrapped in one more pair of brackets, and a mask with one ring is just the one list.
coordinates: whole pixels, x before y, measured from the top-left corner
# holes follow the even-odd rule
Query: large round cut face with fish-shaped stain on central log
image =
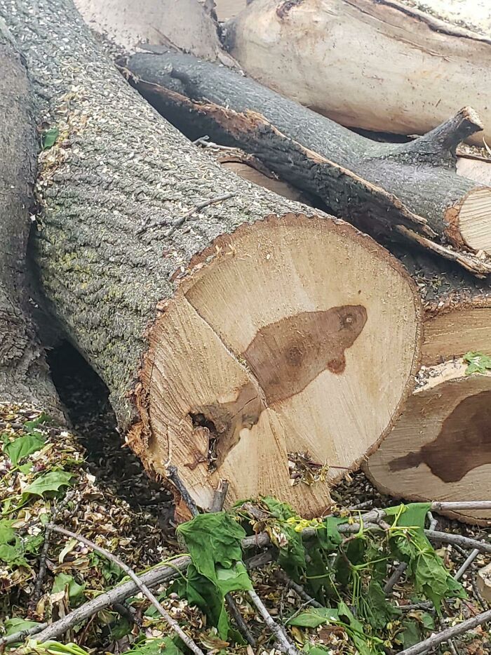
[(410, 390), (415, 289), (352, 227), (298, 215), (244, 225), (190, 269), (149, 335), (133, 448), (157, 474), (176, 465), (203, 508), (227, 479), (228, 504), (321, 515)]

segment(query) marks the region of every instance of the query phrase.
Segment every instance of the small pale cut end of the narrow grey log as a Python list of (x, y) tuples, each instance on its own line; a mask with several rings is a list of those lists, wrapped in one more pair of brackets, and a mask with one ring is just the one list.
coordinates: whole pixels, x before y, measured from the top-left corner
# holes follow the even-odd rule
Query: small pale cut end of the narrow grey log
[(473, 251), (491, 255), (490, 188), (477, 188), (467, 194), (459, 211), (459, 230)]

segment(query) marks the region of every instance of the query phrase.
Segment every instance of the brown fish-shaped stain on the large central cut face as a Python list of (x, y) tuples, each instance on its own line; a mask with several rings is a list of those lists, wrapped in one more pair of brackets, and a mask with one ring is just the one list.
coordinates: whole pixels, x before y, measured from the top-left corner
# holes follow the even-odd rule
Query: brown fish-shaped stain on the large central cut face
[(343, 305), (302, 312), (262, 327), (243, 357), (267, 404), (296, 395), (325, 369), (342, 373), (344, 351), (354, 344), (366, 321), (363, 305)]

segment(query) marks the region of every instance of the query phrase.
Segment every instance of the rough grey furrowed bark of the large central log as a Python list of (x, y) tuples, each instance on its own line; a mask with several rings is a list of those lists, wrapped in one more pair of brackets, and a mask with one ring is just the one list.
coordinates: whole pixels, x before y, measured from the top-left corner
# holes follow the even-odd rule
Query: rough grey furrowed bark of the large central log
[[(34, 80), (36, 121), (60, 136), (41, 156), (33, 254), (46, 303), (109, 388), (121, 430), (157, 305), (173, 274), (242, 223), (313, 211), (222, 170), (130, 88), (71, 0), (0, 0)], [(203, 201), (199, 221), (165, 226)], [(318, 212), (315, 212), (318, 214)], [(328, 218), (326, 217), (326, 220)], [(186, 229), (191, 227), (191, 229)]]

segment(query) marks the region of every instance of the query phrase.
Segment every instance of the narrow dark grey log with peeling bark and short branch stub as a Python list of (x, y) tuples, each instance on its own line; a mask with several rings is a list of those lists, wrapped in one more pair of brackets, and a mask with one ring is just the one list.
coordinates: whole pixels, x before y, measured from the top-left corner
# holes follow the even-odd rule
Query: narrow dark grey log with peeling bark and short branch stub
[(491, 272), (491, 189), (455, 173), (457, 145), (482, 128), (469, 107), (410, 143), (375, 143), (191, 55), (137, 53), (126, 72), (189, 138), (241, 147), (370, 234)]

